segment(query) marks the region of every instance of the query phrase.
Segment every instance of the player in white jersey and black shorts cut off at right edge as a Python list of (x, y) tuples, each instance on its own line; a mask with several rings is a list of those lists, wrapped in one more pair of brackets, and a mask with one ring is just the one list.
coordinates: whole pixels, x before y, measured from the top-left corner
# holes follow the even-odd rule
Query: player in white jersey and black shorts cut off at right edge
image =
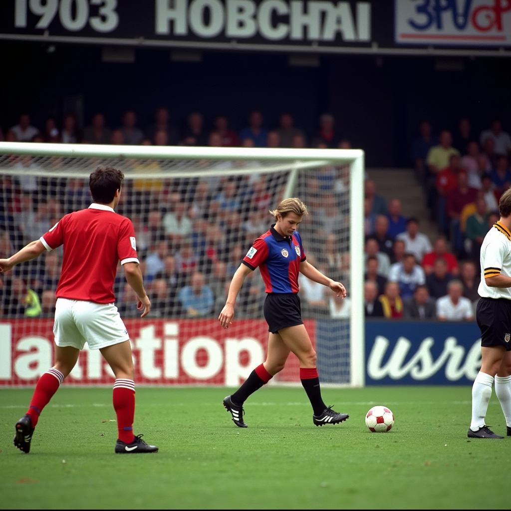
[(476, 319), (481, 329), (482, 364), (472, 387), (470, 438), (503, 438), (485, 424), (492, 385), (511, 436), (511, 188), (499, 201), (500, 219), (481, 245), (481, 284)]

